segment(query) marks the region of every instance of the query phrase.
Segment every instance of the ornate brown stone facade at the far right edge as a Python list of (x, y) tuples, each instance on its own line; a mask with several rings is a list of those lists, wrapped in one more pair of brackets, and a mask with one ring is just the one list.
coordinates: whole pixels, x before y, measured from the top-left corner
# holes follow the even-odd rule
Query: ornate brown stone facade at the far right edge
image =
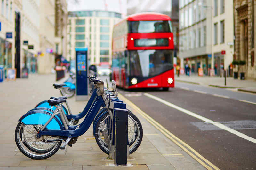
[(234, 61), (244, 61), (236, 65), (236, 72), (245, 73), (245, 78), (256, 79), (256, 0), (234, 0), (235, 55)]

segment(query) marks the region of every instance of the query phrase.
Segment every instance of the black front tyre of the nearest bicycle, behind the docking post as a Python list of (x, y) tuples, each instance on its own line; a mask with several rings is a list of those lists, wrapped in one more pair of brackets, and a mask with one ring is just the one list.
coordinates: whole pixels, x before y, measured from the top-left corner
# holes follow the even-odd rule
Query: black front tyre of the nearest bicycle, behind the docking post
[[(96, 132), (95, 133), (95, 140), (96, 140), (98, 146), (100, 147), (100, 149), (103, 152), (105, 152), (106, 154), (109, 154), (109, 149), (107, 148), (106, 144), (102, 143), (100, 133), (98, 133), (98, 132), (100, 132), (100, 126), (102, 124), (102, 121), (105, 121), (106, 117), (108, 117), (108, 116), (109, 116), (109, 113), (105, 113), (100, 118), (100, 120), (98, 121), (98, 123), (96, 125), (96, 129), (95, 129), (95, 132)], [(128, 111), (128, 116), (133, 118), (133, 120), (136, 122), (136, 127), (138, 128), (138, 131), (136, 131), (136, 137), (135, 137), (136, 139), (132, 142), (132, 144), (134, 144), (134, 142), (136, 141), (135, 145), (132, 146), (132, 144), (130, 144), (130, 142), (129, 142), (129, 153), (132, 154), (134, 151), (136, 151), (138, 149), (138, 147), (141, 144), (142, 137), (143, 137), (143, 129), (142, 129), (142, 126), (141, 126), (141, 123), (140, 123), (139, 119), (134, 114), (132, 114), (131, 111)]]

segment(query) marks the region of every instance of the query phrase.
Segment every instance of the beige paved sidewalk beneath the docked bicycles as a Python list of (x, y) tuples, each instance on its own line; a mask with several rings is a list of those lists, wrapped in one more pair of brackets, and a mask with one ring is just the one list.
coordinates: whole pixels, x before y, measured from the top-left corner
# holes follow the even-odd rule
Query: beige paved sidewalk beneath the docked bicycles
[[(63, 81), (64, 79), (58, 83)], [(78, 137), (76, 144), (72, 147), (59, 150), (48, 159), (33, 160), (26, 157), (18, 150), (14, 139), (18, 119), (40, 101), (49, 99), (51, 96), (60, 96), (60, 92), (52, 86), (54, 82), (55, 75), (31, 74), (28, 79), (0, 83), (0, 170), (205, 169), (137, 113), (135, 115), (142, 123), (144, 136), (140, 147), (128, 159), (132, 166), (109, 166), (114, 161), (107, 159), (108, 155), (103, 153), (96, 144), (92, 127)], [(75, 101), (75, 98), (68, 99), (68, 102), (73, 114), (83, 110), (86, 104), (84, 101)], [(131, 109), (133, 111), (133, 108)]]

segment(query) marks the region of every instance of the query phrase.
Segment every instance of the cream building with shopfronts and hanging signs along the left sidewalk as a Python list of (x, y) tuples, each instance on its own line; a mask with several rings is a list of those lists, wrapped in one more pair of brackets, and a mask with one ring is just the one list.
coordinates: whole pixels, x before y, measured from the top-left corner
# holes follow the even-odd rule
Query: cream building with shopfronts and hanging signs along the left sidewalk
[[(30, 73), (50, 73), (55, 65), (55, 10), (61, 0), (0, 1), (0, 68), (16, 69), (16, 78)], [(62, 2), (63, 1), (63, 2)], [(62, 0), (62, 11), (67, 9)], [(65, 11), (67, 14), (67, 10)], [(67, 15), (63, 15), (66, 16)], [(61, 20), (65, 27), (66, 20)], [(63, 24), (65, 23), (65, 24)], [(61, 27), (61, 29), (63, 29)], [(60, 37), (66, 37), (66, 30)], [(63, 39), (63, 38), (62, 38)], [(66, 47), (66, 40), (63, 41)], [(66, 50), (64, 50), (66, 52)]]

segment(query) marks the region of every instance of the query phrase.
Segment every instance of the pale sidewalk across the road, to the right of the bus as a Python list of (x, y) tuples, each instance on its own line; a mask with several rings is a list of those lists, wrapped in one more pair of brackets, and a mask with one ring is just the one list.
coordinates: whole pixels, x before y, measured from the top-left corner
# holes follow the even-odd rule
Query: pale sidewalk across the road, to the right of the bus
[(237, 88), (240, 91), (256, 93), (256, 81), (255, 80), (240, 80), (233, 77), (226, 78), (226, 86), (224, 77), (209, 77), (209, 76), (197, 76), (197, 75), (175, 75), (175, 80), (186, 83), (193, 83), (204, 86), (213, 86), (219, 88)]

